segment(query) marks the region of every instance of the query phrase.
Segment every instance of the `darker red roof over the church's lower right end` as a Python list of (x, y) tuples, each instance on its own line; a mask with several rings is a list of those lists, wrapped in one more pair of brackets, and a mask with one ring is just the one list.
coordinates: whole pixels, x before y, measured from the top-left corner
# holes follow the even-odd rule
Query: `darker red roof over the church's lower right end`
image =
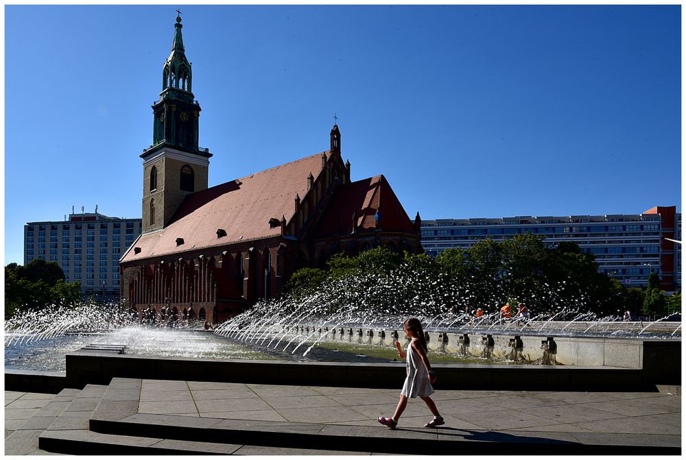
[(331, 237), (353, 231), (353, 211), (357, 230), (376, 228), (374, 215), (380, 210), (379, 227), (387, 232), (414, 232), (403, 205), (393, 193), (388, 180), (376, 175), (341, 186), (327, 206), (326, 213), (316, 230), (316, 237)]

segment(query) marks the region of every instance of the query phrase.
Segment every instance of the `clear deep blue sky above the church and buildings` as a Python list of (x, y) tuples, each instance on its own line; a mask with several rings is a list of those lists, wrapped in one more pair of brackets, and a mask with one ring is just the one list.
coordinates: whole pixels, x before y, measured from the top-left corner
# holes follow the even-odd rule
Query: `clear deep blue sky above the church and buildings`
[[(5, 264), (140, 217), (176, 6), (5, 6)], [(210, 185), (328, 149), (423, 219), (681, 211), (681, 5), (181, 5)]]

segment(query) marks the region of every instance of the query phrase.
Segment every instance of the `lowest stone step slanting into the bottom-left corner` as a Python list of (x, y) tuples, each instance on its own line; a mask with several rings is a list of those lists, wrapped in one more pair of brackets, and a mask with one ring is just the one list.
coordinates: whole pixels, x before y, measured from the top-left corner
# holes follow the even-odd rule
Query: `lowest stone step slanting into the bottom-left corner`
[(78, 396), (78, 389), (60, 391), (50, 402), (5, 437), (5, 455), (45, 455), (38, 447), (38, 437), (64, 412)]

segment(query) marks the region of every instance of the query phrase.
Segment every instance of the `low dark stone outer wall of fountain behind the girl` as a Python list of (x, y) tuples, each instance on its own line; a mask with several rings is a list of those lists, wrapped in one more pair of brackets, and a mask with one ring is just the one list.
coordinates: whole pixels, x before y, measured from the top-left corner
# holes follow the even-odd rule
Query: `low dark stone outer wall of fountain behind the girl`
[[(565, 365), (435, 365), (436, 389), (634, 391), (681, 385), (681, 343), (643, 341), (637, 368)], [(69, 353), (65, 385), (105, 385), (117, 377), (280, 385), (400, 389), (405, 363), (312, 363), (130, 356), (97, 350)], [(5, 373), (5, 388), (12, 378)]]

